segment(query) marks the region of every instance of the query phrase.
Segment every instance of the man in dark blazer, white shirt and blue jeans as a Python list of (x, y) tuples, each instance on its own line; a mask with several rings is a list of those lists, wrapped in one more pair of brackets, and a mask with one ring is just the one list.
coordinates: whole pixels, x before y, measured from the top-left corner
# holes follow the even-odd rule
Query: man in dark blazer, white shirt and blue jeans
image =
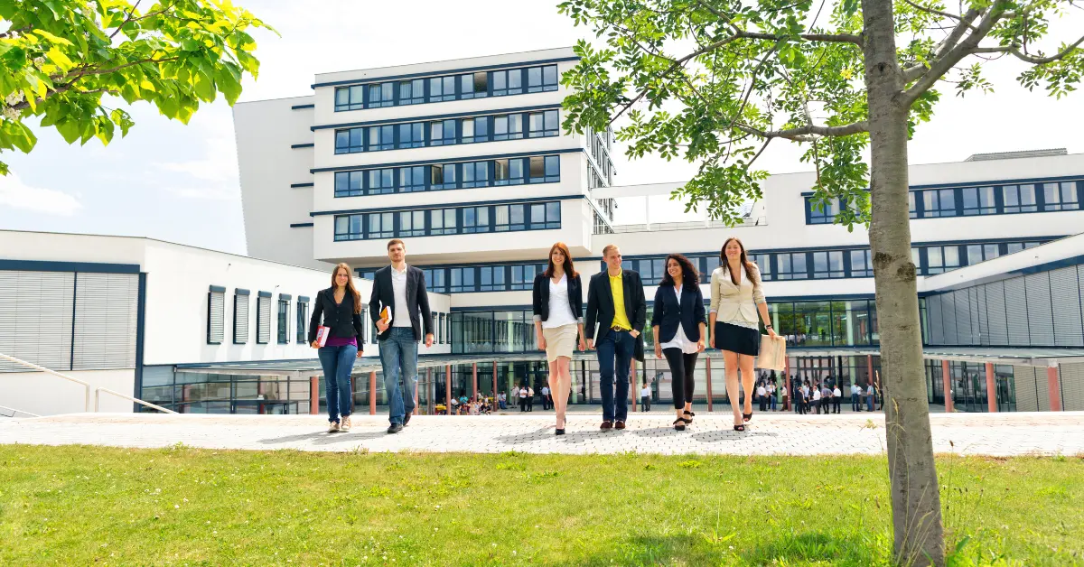
[[(429, 296), (425, 292), (425, 274), (406, 266), (406, 245), (395, 239), (388, 241), (386, 266), (373, 275), (373, 294), (369, 299), (369, 315), (376, 325), (377, 344), (380, 346), (380, 365), (384, 368), (384, 388), (388, 392), (389, 434), (402, 430), (414, 412), (414, 388), (417, 385), (417, 342), (425, 330), (425, 346), (433, 346), (433, 314)], [(391, 317), (382, 311), (390, 308)], [(421, 315), (418, 310), (421, 308)], [(403, 387), (400, 390), (399, 379)]]

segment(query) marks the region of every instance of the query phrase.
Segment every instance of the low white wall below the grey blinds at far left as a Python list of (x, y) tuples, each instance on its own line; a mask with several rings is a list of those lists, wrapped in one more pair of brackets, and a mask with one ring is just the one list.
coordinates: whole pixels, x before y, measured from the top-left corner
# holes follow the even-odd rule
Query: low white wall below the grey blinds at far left
[[(83, 370), (62, 374), (91, 385), (90, 411), (94, 411), (94, 388), (105, 387), (132, 396), (134, 370)], [(74, 382), (43, 372), (0, 373), (0, 405), (38, 415), (59, 415), (86, 411), (86, 388)], [(102, 412), (132, 411), (132, 402), (102, 392)]]

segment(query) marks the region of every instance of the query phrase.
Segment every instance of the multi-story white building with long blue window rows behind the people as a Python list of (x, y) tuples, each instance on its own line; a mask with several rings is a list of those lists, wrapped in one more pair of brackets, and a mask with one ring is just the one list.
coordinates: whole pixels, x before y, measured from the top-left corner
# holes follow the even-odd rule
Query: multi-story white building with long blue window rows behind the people
[[(452, 352), (474, 355), (534, 350), (530, 287), (554, 242), (569, 246), (584, 278), (602, 270), (605, 245), (619, 245), (650, 298), (672, 252), (698, 263), (707, 292), (723, 241), (736, 235), (761, 267), (796, 373), (870, 379), (876, 357), (859, 353), (879, 342), (868, 235), (833, 223), (838, 203), (810, 202), (814, 175), (769, 178), (738, 227), (617, 224), (616, 206), (644, 206), (681, 183), (616, 185), (612, 134), (560, 127), (560, 76), (575, 64), (571, 49), (556, 49), (331, 73), (310, 96), (238, 104), (249, 253), (347, 261), (365, 278), (386, 262), (386, 242), (403, 239), (428, 287), (451, 296)], [(915, 165), (909, 176), (920, 289), (926, 278), (1084, 227), (1084, 155), (976, 155)], [(1084, 347), (1073, 340), (1050, 346)], [(508, 372), (530, 379), (544, 369)], [(640, 372), (651, 378), (654, 365)]]

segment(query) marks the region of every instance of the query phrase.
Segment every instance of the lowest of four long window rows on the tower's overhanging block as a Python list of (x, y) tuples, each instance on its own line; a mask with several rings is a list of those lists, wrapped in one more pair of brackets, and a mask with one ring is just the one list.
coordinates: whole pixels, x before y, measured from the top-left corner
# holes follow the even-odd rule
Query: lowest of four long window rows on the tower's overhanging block
[(560, 203), (482, 205), (335, 217), (335, 241), (518, 232), (560, 228)]

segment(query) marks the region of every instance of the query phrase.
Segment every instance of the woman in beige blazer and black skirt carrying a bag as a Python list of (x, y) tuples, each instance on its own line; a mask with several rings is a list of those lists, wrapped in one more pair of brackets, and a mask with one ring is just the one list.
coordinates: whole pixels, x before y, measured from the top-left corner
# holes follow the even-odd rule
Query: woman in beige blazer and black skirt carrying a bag
[[(745, 422), (752, 418), (753, 358), (760, 351), (760, 326), (757, 314), (764, 321), (767, 334), (775, 336), (767, 302), (761, 288), (760, 270), (746, 258), (741, 241), (731, 236), (720, 253), (722, 266), (711, 272), (710, 325), (711, 347), (723, 351), (726, 369), (726, 395), (734, 410), (734, 430), (744, 431)], [(738, 370), (745, 390), (745, 408), (738, 411)]]

